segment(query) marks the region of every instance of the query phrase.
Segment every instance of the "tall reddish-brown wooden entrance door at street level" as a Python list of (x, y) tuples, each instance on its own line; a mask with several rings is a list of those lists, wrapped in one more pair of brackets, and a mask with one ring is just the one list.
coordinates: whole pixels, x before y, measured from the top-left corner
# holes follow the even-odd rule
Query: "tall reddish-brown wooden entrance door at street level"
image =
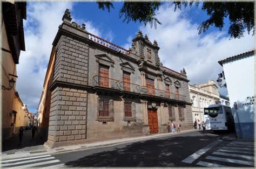
[(157, 109), (148, 109), (150, 133), (158, 133)]

